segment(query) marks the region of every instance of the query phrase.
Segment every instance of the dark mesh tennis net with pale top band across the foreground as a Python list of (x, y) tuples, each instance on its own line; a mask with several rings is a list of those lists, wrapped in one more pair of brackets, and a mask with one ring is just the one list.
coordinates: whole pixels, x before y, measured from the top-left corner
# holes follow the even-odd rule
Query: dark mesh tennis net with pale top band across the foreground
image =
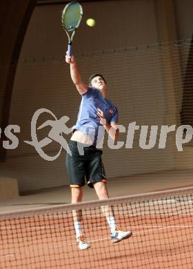
[[(122, 230), (112, 243), (101, 207)], [(91, 248), (79, 250), (72, 212)], [(0, 268), (193, 268), (193, 187), (0, 215)]]

